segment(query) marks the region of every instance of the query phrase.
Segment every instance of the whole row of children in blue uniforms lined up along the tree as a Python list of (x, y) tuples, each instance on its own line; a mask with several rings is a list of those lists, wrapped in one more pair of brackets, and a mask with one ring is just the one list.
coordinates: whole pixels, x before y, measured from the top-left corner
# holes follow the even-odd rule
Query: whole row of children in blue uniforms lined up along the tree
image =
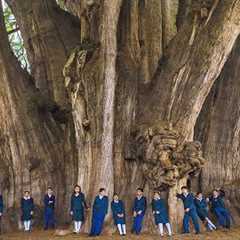
[[(217, 217), (218, 225), (226, 228), (230, 228), (230, 213), (224, 205), (224, 194), (220, 190), (214, 190), (210, 198), (204, 198), (202, 193), (197, 193), (194, 196), (188, 191), (188, 188), (183, 186), (181, 193), (176, 197), (183, 201), (184, 205), (184, 217), (183, 217), (183, 233), (189, 233), (189, 221), (192, 219), (196, 234), (200, 233), (200, 219), (205, 225), (207, 230), (215, 230), (215, 224), (209, 218), (208, 203), (211, 204), (213, 213)], [(103, 229), (103, 223), (105, 216), (108, 212), (108, 197), (104, 188), (99, 190), (99, 194), (96, 196), (92, 207), (92, 222), (90, 236), (98, 236)], [(172, 229), (169, 222), (167, 204), (158, 191), (154, 193), (152, 202), (152, 213), (154, 216), (155, 224), (159, 229), (160, 235), (163, 235), (163, 227), (166, 226), (169, 236), (172, 235)], [(48, 188), (44, 197), (44, 229), (55, 227), (54, 218), (55, 208), (55, 196), (52, 188)], [(85, 221), (84, 210), (89, 209), (86, 203), (84, 193), (82, 193), (80, 186), (76, 185), (74, 193), (71, 196), (71, 208), (70, 214), (74, 223), (74, 233), (80, 233), (82, 224)], [(24, 196), (21, 199), (22, 221), (24, 231), (30, 231), (31, 220), (34, 213), (34, 201), (30, 196), (29, 191), (24, 192)], [(114, 219), (114, 223), (119, 231), (120, 235), (126, 235), (126, 213), (122, 200), (119, 199), (117, 194), (114, 194), (111, 202), (111, 210)], [(143, 195), (143, 189), (138, 188), (136, 191), (136, 197), (133, 204), (133, 225), (132, 233), (140, 234), (142, 230), (142, 223), (147, 210), (147, 200)], [(3, 200), (0, 196), (0, 215), (3, 212)]]

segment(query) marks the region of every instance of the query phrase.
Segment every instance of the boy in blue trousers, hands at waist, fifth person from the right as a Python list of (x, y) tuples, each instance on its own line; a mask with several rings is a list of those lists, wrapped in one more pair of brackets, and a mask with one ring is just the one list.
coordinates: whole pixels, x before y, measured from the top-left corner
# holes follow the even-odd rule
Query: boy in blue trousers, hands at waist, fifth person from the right
[(138, 188), (133, 204), (133, 226), (132, 233), (139, 235), (142, 230), (142, 222), (147, 209), (147, 200), (143, 196), (143, 189)]

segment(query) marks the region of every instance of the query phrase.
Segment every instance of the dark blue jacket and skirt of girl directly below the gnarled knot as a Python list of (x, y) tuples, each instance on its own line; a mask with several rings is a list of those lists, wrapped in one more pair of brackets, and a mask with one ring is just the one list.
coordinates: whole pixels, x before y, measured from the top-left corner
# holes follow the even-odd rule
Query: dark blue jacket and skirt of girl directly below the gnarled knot
[(155, 212), (154, 219), (156, 225), (158, 225), (159, 223), (166, 224), (169, 222), (167, 205), (163, 199), (160, 198), (158, 200), (156, 199), (152, 200), (152, 211)]

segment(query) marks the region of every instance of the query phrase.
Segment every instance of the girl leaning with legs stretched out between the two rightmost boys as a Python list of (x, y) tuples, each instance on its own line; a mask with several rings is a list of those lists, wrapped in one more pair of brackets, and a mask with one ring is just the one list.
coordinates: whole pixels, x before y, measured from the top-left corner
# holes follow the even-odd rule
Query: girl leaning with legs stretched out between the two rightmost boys
[(201, 219), (203, 223), (205, 223), (207, 230), (215, 230), (216, 226), (213, 222), (209, 219), (208, 216), (208, 204), (207, 200), (203, 197), (201, 192), (198, 192), (195, 199), (195, 206), (197, 210), (198, 217)]

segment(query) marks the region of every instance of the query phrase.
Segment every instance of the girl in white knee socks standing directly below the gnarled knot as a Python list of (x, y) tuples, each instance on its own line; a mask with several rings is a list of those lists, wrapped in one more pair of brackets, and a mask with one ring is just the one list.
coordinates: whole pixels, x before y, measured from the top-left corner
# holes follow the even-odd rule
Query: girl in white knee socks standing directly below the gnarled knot
[(168, 235), (172, 236), (172, 229), (168, 220), (166, 202), (160, 197), (159, 192), (154, 193), (152, 200), (152, 212), (154, 215), (155, 224), (159, 228), (160, 235), (163, 236), (163, 225), (165, 225), (168, 230)]

